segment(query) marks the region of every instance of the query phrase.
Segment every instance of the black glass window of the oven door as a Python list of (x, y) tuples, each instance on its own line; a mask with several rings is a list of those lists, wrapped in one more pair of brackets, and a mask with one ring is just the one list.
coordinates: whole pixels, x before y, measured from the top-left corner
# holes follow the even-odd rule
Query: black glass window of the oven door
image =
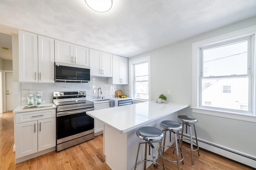
[(94, 128), (94, 119), (86, 113), (57, 117), (57, 139), (76, 135)]

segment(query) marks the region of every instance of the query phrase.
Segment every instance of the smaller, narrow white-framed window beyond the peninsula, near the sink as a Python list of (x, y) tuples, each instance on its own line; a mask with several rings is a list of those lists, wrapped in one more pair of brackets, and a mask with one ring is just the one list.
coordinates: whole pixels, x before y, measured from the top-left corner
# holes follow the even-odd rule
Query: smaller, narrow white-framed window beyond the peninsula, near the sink
[(135, 100), (150, 99), (150, 56), (129, 61), (130, 96)]

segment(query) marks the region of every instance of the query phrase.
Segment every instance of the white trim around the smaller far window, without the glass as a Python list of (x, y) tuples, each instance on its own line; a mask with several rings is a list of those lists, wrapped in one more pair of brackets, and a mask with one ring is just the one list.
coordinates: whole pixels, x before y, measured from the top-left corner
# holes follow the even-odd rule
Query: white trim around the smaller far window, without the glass
[[(147, 61), (148, 62), (148, 100), (142, 100), (141, 101), (150, 101), (151, 99), (151, 74), (150, 74), (150, 55), (146, 56), (146, 57), (141, 57), (138, 59), (134, 59), (134, 60), (129, 60), (129, 84), (130, 84), (130, 96), (132, 98), (135, 98), (135, 96), (133, 95), (133, 90), (134, 90), (134, 83), (133, 83), (133, 64), (136, 63), (141, 63), (143, 61)], [(139, 100), (139, 99), (136, 99)]]

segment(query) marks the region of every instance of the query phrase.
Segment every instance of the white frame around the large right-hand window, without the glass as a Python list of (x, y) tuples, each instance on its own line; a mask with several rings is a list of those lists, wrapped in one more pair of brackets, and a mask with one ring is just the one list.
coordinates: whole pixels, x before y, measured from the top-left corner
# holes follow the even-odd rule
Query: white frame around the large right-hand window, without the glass
[[(244, 121), (252, 121), (256, 122), (256, 57), (255, 57), (255, 49), (256, 49), (256, 41), (255, 41), (255, 34), (256, 34), (256, 25), (252, 27), (248, 27), (245, 29), (241, 29), (238, 31), (234, 31), (232, 33), (227, 33), (224, 35), (220, 35), (218, 37), (213, 37), (210, 39), (206, 39), (203, 41), (199, 41), (192, 44), (192, 111), (194, 113), (202, 113), (207, 115), (214, 115), (219, 117), (227, 117), (231, 119), (239, 119)], [(248, 104), (248, 107), (251, 107), (250, 112), (244, 112), (244, 111), (234, 111), (231, 109), (220, 109), (220, 108), (212, 108), (212, 107), (201, 107), (200, 106), (200, 78), (201, 78), (201, 66), (200, 64), (200, 53), (201, 49), (204, 47), (210, 47), (211, 45), (215, 44), (221, 44), (228, 41), (234, 41), (238, 39), (243, 39), (246, 37), (252, 36), (251, 41), (251, 61), (249, 64), (250, 66), (250, 76), (252, 82), (249, 82), (252, 86), (249, 86), (249, 89), (252, 89), (251, 92), (253, 92), (251, 96), (251, 106)], [(248, 73), (249, 74), (249, 73)], [(246, 74), (246, 75), (248, 75)], [(250, 80), (250, 78), (249, 78)]]

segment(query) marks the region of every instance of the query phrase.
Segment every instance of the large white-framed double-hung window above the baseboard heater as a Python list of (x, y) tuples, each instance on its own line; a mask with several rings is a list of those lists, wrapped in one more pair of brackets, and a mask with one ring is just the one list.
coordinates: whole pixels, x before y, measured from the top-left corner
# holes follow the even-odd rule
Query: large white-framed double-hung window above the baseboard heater
[(256, 122), (255, 33), (253, 26), (193, 43), (193, 112)]

